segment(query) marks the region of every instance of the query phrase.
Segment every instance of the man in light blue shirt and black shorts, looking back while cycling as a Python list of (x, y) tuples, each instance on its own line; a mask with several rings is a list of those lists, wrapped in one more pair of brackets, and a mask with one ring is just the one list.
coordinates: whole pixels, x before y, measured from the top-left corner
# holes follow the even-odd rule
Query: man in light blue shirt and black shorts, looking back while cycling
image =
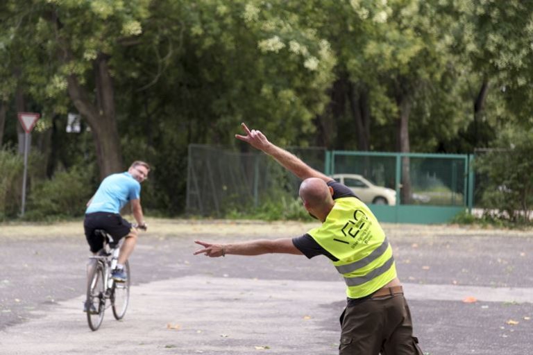
[(126, 281), (124, 263), (137, 243), (137, 230), (120, 216), (120, 210), (130, 202), (137, 228), (146, 230), (140, 200), (140, 183), (148, 178), (149, 172), (149, 164), (133, 162), (128, 171), (112, 174), (103, 179), (94, 196), (87, 202), (83, 227), (91, 252), (96, 254), (103, 247), (103, 237), (94, 234), (95, 230), (105, 230), (117, 243), (120, 239), (126, 238), (120, 248), (117, 269), (112, 270), (112, 278), (117, 282)]

